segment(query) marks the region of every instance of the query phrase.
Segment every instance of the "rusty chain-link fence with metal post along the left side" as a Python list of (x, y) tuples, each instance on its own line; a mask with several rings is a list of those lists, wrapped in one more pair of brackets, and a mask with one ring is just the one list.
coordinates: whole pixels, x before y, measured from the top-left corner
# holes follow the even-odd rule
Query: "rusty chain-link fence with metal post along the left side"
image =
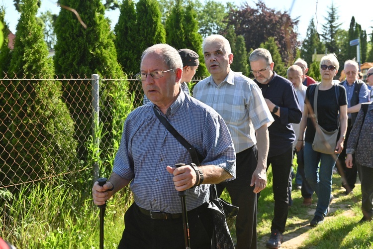
[(8, 211), (19, 196), (61, 181), (90, 196), (94, 179), (110, 174), (124, 121), (143, 101), (141, 82), (132, 77), (0, 79), (3, 235), (11, 234)]

